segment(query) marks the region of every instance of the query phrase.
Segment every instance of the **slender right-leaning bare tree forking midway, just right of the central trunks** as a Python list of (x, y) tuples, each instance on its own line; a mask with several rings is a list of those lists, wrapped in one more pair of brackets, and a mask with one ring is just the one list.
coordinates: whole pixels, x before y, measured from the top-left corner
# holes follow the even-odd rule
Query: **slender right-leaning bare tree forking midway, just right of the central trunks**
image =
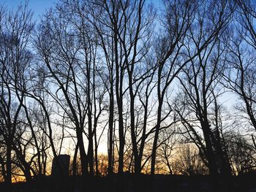
[(195, 14), (194, 1), (165, 1), (164, 7), (165, 10), (162, 12), (165, 18), (162, 23), (164, 31), (162, 34), (159, 34), (155, 45), (158, 108), (151, 154), (151, 174), (154, 174), (157, 141), (162, 122), (162, 106), (164, 104), (165, 93), (178, 72), (187, 64), (187, 62), (184, 62), (184, 64), (179, 66), (176, 62), (181, 54), (184, 37), (192, 23), (193, 14)]

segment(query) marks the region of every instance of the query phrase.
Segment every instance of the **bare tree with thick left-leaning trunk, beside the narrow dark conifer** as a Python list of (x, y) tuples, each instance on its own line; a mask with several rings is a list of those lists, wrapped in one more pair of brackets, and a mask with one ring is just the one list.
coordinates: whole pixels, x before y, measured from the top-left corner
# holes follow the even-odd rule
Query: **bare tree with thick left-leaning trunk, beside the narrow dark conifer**
[[(227, 1), (218, 4), (206, 1), (202, 4), (196, 15), (197, 28), (193, 26), (189, 30), (191, 39), (187, 46), (189, 58), (192, 58), (195, 52), (198, 55), (182, 69), (184, 76), (178, 77), (183, 96), (183, 110), (179, 110), (178, 114), (190, 137), (200, 148), (200, 153), (205, 155), (207, 166), (213, 175), (217, 175), (218, 172), (230, 174), (229, 161), (220, 141), (217, 99), (223, 93), (219, 87), (219, 80), (225, 66), (221, 62), (225, 52), (225, 44), (222, 42), (225, 39), (221, 40), (220, 37), (225, 33), (232, 13), (233, 9)], [(207, 47), (198, 52), (208, 38), (211, 40)], [(192, 45), (195, 46), (195, 50), (191, 48)], [(211, 112), (213, 105), (214, 112)], [(211, 121), (211, 114), (214, 114), (214, 121)], [(203, 132), (204, 141), (199, 130)]]

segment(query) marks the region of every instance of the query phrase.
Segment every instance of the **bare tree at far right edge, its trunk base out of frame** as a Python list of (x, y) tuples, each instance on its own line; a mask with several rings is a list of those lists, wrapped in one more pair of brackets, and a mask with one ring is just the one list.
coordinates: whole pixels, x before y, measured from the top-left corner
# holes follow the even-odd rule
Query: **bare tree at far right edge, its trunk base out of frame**
[[(240, 120), (249, 120), (247, 126), (256, 128), (255, 118), (255, 1), (236, 1), (236, 20), (231, 33), (230, 42), (227, 45), (228, 53), (225, 70), (225, 86), (236, 93), (241, 103), (236, 104), (237, 117)], [(248, 122), (248, 121), (247, 121)], [(255, 138), (252, 134), (252, 141)], [(256, 147), (256, 145), (255, 145)]]

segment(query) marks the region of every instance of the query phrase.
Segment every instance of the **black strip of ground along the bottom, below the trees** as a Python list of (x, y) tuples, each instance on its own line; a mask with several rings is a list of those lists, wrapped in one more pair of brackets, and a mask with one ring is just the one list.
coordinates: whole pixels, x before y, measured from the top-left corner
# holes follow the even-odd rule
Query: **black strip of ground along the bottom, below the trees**
[(1, 191), (10, 192), (118, 192), (118, 191), (255, 191), (255, 174), (218, 177), (183, 176), (165, 174), (117, 174), (107, 177), (66, 177), (61, 180), (41, 177), (29, 183), (14, 183), (7, 187), (0, 184)]

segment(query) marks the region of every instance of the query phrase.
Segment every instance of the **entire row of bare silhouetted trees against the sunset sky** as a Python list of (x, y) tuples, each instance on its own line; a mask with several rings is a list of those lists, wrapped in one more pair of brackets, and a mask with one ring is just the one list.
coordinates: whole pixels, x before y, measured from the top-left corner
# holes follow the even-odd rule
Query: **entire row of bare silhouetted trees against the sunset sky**
[(62, 153), (83, 176), (255, 168), (255, 1), (157, 7), (60, 0), (37, 23), (0, 7), (1, 180)]

